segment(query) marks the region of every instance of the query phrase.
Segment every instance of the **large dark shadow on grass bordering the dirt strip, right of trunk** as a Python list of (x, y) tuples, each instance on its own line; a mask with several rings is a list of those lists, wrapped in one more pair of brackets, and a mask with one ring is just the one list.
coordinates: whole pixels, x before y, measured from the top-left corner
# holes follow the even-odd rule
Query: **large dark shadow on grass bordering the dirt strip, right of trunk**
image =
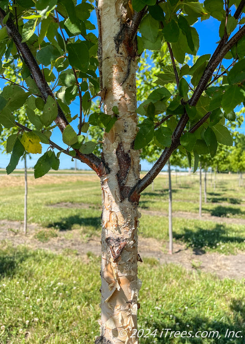
[(184, 234), (173, 232), (173, 237), (176, 240), (185, 242), (188, 247), (192, 247), (196, 255), (204, 254), (205, 248), (216, 247), (218, 243), (227, 242), (244, 242), (244, 237), (240, 236), (229, 236), (228, 231), (221, 224), (217, 224), (214, 229), (202, 229), (190, 230), (185, 228)]

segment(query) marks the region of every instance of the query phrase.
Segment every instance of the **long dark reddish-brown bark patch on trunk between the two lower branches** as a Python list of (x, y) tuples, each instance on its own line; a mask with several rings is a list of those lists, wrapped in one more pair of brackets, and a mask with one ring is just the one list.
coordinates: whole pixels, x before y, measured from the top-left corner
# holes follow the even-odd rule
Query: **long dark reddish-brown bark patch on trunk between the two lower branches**
[(125, 187), (127, 176), (131, 168), (131, 157), (123, 150), (123, 144), (120, 142), (116, 150), (118, 158), (119, 171), (117, 172), (119, 190), (122, 200), (124, 200), (130, 191), (129, 187)]

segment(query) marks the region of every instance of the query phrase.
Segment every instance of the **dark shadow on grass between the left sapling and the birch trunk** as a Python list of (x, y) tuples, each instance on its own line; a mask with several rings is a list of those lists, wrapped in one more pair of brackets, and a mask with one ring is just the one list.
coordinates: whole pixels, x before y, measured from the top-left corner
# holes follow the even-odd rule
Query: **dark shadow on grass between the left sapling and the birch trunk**
[(62, 218), (60, 221), (49, 223), (47, 227), (54, 227), (59, 230), (71, 230), (74, 225), (84, 227), (94, 227), (94, 229), (100, 229), (101, 220), (100, 217), (81, 217), (73, 215)]

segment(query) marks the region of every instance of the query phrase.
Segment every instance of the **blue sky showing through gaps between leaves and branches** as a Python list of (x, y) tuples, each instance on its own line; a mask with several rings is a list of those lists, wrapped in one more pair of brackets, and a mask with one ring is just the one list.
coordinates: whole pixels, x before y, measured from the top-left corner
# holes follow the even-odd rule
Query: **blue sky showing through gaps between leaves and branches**
[[(202, 2), (202, 1), (201, 1)], [(92, 18), (92, 22), (96, 22), (95, 16)], [(198, 21), (194, 27), (197, 29), (197, 32), (199, 33), (199, 40), (200, 40), (200, 48), (198, 50), (197, 55), (203, 55), (203, 54), (212, 54), (217, 46), (217, 42), (219, 41), (219, 25), (220, 22), (218, 22), (216, 19), (210, 17), (210, 19), (205, 21)], [(228, 63), (228, 61), (227, 61)], [(0, 80), (0, 88), (4, 86), (4, 83)], [(78, 100), (73, 102), (71, 105), (71, 112), (72, 115), (78, 114), (79, 112), (79, 103)], [(242, 128), (240, 129), (241, 132), (245, 133), (245, 122), (243, 123)], [(51, 140), (55, 143), (64, 146), (61, 140), (61, 134), (59, 132), (59, 129), (54, 129)], [(46, 146), (43, 145), (43, 152), (47, 149)], [(40, 154), (32, 154), (31, 159), (28, 159), (27, 166), (33, 167), (37, 161), (37, 159), (40, 157)], [(5, 168), (9, 162), (10, 154), (4, 154), (0, 153), (0, 168)], [(60, 169), (70, 169), (74, 167), (74, 162), (72, 162), (71, 158), (65, 154), (61, 154), (60, 156)], [(152, 164), (147, 163), (146, 161), (142, 161), (142, 170), (148, 170)], [(23, 168), (24, 162), (20, 161), (17, 168)], [(78, 169), (87, 169), (87, 165), (81, 163), (80, 161), (77, 161), (77, 168)]]

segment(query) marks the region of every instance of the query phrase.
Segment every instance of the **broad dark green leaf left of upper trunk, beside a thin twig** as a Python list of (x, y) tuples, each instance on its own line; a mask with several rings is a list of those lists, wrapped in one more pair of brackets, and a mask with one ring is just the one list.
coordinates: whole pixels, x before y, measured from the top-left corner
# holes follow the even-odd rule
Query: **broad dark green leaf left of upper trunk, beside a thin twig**
[(71, 43), (67, 45), (70, 64), (79, 69), (86, 70), (89, 65), (89, 50), (86, 43)]

